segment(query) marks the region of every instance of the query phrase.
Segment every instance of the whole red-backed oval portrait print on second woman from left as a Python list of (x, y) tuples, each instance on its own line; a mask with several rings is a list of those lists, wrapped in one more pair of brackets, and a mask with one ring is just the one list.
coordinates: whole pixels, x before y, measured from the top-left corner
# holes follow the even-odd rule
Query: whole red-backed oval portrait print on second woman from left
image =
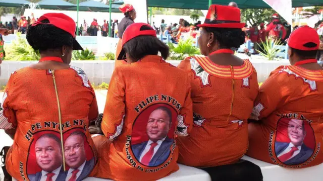
[(166, 162), (174, 143), (177, 112), (166, 104), (146, 108), (135, 120), (131, 149), (139, 163), (159, 166)]

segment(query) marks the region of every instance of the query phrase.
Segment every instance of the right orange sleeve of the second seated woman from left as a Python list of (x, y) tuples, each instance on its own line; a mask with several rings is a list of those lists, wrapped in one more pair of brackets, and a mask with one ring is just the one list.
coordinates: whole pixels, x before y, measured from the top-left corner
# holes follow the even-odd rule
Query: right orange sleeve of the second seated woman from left
[(185, 102), (177, 116), (177, 131), (180, 136), (187, 136), (193, 127), (193, 102), (191, 99), (191, 76), (187, 79)]

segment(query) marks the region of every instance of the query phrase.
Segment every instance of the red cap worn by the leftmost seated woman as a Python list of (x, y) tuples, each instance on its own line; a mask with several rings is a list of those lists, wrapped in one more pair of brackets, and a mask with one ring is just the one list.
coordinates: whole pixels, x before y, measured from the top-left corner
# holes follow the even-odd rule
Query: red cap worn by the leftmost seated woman
[[(49, 23), (41, 23), (43, 20), (48, 20)], [(75, 22), (74, 20), (63, 14), (63, 13), (47, 13), (42, 15), (38, 21), (36, 21), (32, 26), (37, 26), (41, 24), (49, 24), (53, 25), (59, 29), (62, 29), (69, 34), (71, 34), (74, 38), (73, 40), (73, 50), (83, 50), (81, 45), (76, 41), (76, 27), (75, 27)]]

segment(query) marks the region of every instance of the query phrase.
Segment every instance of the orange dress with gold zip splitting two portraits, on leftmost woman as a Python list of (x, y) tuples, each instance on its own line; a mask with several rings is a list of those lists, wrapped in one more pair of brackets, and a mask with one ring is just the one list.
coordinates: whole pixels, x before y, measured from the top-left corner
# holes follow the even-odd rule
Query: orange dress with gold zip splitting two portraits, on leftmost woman
[(17, 180), (87, 177), (97, 161), (87, 128), (97, 116), (94, 90), (80, 68), (15, 71), (0, 109), (0, 129), (17, 129), (6, 159), (8, 172)]

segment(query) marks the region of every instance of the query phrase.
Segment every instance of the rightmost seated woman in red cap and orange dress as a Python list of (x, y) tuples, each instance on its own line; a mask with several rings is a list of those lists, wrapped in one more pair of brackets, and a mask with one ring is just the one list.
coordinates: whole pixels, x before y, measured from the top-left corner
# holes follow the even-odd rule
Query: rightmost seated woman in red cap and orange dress
[[(249, 124), (247, 155), (291, 168), (323, 162), (323, 71), (315, 55), (319, 38), (302, 26), (288, 39), (290, 66), (280, 66), (261, 85)], [(321, 89), (322, 88), (322, 89)]]

